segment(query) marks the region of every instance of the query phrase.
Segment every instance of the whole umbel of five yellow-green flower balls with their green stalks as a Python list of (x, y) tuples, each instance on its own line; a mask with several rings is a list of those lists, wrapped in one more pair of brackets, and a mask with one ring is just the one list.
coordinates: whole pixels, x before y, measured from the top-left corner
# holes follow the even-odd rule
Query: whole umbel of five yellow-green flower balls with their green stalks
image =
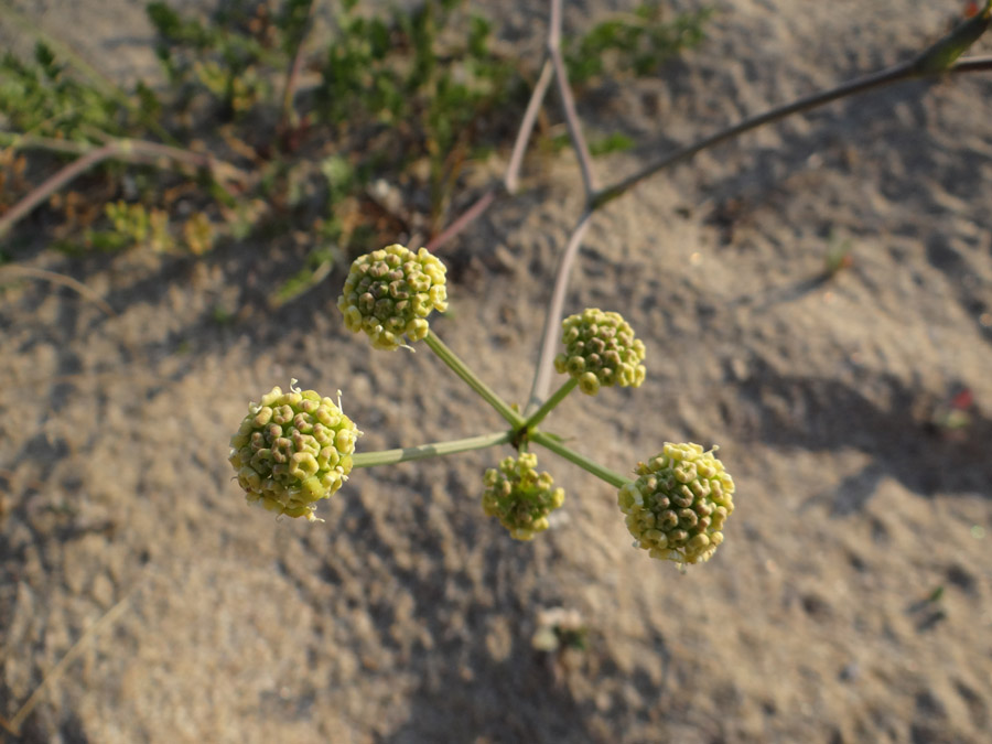
[[(425, 249), (393, 245), (357, 258), (337, 306), (352, 331), (364, 332), (375, 348), (396, 349), (423, 341), (506, 420), (509, 429), (463, 440), (433, 442), (385, 452), (355, 454), (362, 434), (338, 402), (313, 390), (272, 388), (248, 407), (230, 440), (230, 463), (249, 503), (313, 521), (315, 504), (330, 498), (352, 467), (395, 464), (513, 444), (519, 455), (506, 457), (483, 478), (483, 511), (499, 520), (517, 540), (532, 540), (549, 527), (549, 515), (564, 503), (547, 472), (537, 468), (531, 444), (593, 473), (617, 487), (617, 503), (635, 547), (651, 558), (679, 564), (709, 560), (723, 541), (723, 525), (734, 510), (734, 482), (713, 451), (699, 444), (666, 443), (660, 454), (635, 468), (636, 481), (614, 473), (571, 450), (561, 436), (538, 427), (575, 387), (595, 395), (604, 387), (639, 387), (645, 379), (645, 347), (615, 312), (592, 308), (562, 323), (563, 351), (554, 366), (569, 379), (537, 410), (521, 413), (487, 385), (430, 332), (428, 316), (448, 308), (444, 265)], [(715, 450), (715, 448), (714, 448)]]

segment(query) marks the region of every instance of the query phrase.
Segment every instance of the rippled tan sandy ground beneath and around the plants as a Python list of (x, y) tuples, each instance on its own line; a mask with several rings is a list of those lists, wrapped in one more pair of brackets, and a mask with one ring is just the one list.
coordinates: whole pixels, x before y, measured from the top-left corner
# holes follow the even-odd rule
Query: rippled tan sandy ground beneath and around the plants
[[(602, 177), (903, 60), (960, 10), (716, 4), (709, 42), (664, 79), (581, 106), (591, 129), (643, 143), (597, 161)], [(87, 53), (130, 40), (143, 64), (141, 3), (76, 6), (20, 3)], [(542, 14), (513, 13), (532, 48)], [(433, 326), (516, 400), (580, 207), (571, 157), (525, 173), (527, 193), (445, 255), (453, 312)], [(506, 450), (357, 471), (324, 524), (248, 508), (228, 439), (291, 377), (342, 389), (367, 451), (499, 425), (425, 349), (348, 334), (343, 269), (269, 312), (268, 282), (294, 267), (265, 246), (19, 257), (115, 314), (43, 282), (0, 293), (0, 715), (123, 602), (17, 741), (989, 741), (990, 204), (985, 74), (746, 136), (596, 218), (568, 311), (622, 312), (648, 380), (576, 395), (548, 425), (623, 472), (666, 440), (720, 444), (737, 509), (686, 575), (632, 549), (613, 489), (550, 453), (568, 498), (533, 543), (481, 513), (482, 472)], [(841, 241), (852, 266), (818, 281)], [(220, 303), (237, 322), (213, 320)], [(939, 421), (962, 391), (968, 425), (951, 431)], [(586, 651), (532, 648), (558, 606), (581, 613)]]

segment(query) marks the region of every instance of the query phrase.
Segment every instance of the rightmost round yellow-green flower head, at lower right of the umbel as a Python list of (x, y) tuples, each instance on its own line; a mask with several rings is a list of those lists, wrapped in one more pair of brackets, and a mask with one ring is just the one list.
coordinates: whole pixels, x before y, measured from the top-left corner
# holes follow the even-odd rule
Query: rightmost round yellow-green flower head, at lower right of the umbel
[(677, 563), (709, 560), (734, 510), (734, 482), (723, 463), (699, 444), (666, 442), (635, 472), (639, 477), (617, 496), (635, 547)]

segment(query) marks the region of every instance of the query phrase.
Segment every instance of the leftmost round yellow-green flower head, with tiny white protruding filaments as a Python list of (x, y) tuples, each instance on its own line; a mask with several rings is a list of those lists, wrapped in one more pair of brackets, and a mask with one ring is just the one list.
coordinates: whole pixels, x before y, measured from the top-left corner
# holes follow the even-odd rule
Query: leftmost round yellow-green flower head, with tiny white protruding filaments
[[(293, 380), (295, 384), (295, 380)], [(230, 439), (230, 464), (249, 504), (313, 521), (314, 505), (341, 488), (362, 435), (337, 403), (313, 390), (274, 387)]]

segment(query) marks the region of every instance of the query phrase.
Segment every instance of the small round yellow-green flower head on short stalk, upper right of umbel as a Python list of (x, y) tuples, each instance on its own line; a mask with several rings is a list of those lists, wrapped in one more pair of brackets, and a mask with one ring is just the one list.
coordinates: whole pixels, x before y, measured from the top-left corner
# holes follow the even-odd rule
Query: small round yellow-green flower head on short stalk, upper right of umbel
[(619, 313), (591, 308), (561, 326), (565, 351), (554, 357), (554, 368), (579, 380), (582, 392), (594, 396), (602, 386), (636, 388), (644, 382), (644, 344)]

